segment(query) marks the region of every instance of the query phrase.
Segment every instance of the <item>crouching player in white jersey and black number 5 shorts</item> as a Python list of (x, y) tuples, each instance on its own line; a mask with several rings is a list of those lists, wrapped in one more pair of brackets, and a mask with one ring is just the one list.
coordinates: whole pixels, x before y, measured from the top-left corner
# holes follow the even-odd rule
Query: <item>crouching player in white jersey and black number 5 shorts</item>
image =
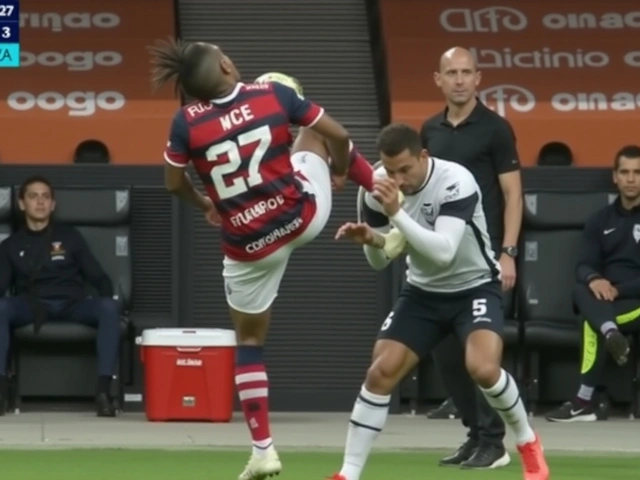
[[(378, 150), (383, 168), (376, 172), (373, 192), (365, 195), (366, 223), (345, 224), (336, 238), (364, 245), (369, 264), (379, 270), (391, 261), (385, 243), (398, 235), (383, 233), (393, 226), (406, 240), (407, 283), (380, 328), (351, 414), (344, 463), (333, 480), (360, 480), (386, 422), (391, 392), (452, 331), (465, 345), (469, 374), (515, 434), (524, 479), (547, 480), (540, 439), (514, 379), (500, 366), (500, 270), (489, 246), (478, 184), (461, 165), (430, 157), (409, 126), (383, 129)], [(398, 190), (405, 196), (402, 205)]]

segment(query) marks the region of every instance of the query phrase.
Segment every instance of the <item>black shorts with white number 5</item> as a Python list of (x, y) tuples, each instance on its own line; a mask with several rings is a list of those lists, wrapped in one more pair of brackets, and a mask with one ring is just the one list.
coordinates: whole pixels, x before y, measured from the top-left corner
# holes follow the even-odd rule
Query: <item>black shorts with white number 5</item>
[(395, 340), (424, 358), (452, 332), (466, 341), (475, 330), (502, 337), (504, 306), (501, 285), (485, 283), (456, 293), (434, 293), (405, 284), (378, 339)]

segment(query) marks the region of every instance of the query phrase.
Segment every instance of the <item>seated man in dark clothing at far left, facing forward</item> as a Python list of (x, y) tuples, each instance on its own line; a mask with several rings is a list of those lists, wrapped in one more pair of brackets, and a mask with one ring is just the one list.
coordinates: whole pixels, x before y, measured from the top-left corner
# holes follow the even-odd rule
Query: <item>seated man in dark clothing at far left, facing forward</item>
[[(0, 244), (0, 414), (4, 413), (9, 332), (12, 328), (64, 319), (97, 327), (98, 416), (115, 415), (109, 396), (120, 344), (118, 305), (113, 284), (73, 227), (52, 222), (54, 192), (46, 178), (34, 176), (20, 187), (25, 224)], [(99, 297), (86, 296), (85, 280)]]

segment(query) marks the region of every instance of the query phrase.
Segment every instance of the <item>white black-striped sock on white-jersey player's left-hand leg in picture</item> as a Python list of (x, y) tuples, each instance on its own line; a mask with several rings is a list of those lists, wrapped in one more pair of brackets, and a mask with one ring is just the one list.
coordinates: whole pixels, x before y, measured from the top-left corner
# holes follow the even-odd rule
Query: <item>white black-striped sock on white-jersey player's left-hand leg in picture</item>
[(347, 480), (360, 480), (369, 452), (389, 414), (391, 395), (376, 395), (362, 386), (349, 420), (344, 463), (340, 474)]

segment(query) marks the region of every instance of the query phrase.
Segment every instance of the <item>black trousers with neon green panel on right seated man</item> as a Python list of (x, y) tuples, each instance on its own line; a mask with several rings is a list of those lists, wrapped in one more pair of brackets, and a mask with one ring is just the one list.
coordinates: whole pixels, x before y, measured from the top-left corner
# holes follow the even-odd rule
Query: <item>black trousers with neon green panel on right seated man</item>
[(600, 387), (607, 363), (602, 326), (614, 323), (622, 333), (640, 330), (640, 299), (598, 300), (589, 287), (577, 285), (573, 300), (582, 323), (580, 383), (587, 387)]

